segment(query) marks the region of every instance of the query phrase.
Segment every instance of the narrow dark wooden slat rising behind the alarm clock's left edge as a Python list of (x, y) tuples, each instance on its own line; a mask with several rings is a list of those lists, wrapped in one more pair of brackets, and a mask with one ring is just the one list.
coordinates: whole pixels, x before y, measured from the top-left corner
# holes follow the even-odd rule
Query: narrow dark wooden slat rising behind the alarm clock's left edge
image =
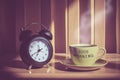
[(16, 1), (16, 51), (19, 51), (20, 41), (20, 29), (25, 24), (24, 21), (24, 0)]

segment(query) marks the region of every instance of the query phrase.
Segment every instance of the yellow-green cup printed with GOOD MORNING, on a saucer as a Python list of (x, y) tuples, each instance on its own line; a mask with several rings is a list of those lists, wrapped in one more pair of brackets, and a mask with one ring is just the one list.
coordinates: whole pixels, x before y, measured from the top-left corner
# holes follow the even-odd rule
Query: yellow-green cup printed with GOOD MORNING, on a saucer
[(92, 44), (73, 44), (69, 48), (73, 63), (80, 66), (91, 66), (106, 54), (105, 48)]

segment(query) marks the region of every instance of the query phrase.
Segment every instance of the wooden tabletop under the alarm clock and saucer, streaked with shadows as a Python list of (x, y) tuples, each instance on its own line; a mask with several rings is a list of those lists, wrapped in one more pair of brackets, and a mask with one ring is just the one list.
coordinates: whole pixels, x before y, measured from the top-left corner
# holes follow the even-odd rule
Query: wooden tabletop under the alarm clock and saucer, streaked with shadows
[(0, 61), (0, 80), (120, 80), (120, 54), (107, 54), (108, 64), (99, 70), (75, 71), (59, 63), (65, 55), (56, 55), (49, 68), (27, 70), (20, 58)]

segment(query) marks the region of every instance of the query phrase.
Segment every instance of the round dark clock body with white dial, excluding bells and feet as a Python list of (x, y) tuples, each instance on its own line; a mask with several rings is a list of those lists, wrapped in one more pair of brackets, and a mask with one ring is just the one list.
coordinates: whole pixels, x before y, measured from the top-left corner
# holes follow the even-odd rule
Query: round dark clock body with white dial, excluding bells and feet
[(47, 64), (53, 55), (52, 44), (41, 36), (33, 36), (21, 44), (20, 56), (25, 64), (42, 67)]

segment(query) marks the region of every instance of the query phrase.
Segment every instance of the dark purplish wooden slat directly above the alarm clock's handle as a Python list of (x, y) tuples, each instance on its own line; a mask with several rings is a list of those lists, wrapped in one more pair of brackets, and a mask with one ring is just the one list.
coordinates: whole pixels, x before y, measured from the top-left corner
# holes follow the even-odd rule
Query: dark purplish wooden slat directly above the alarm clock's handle
[[(25, 26), (31, 23), (41, 23), (41, 0), (24, 0), (24, 19)], [(29, 28), (33, 32), (39, 32), (41, 27), (39, 25), (31, 25)]]

